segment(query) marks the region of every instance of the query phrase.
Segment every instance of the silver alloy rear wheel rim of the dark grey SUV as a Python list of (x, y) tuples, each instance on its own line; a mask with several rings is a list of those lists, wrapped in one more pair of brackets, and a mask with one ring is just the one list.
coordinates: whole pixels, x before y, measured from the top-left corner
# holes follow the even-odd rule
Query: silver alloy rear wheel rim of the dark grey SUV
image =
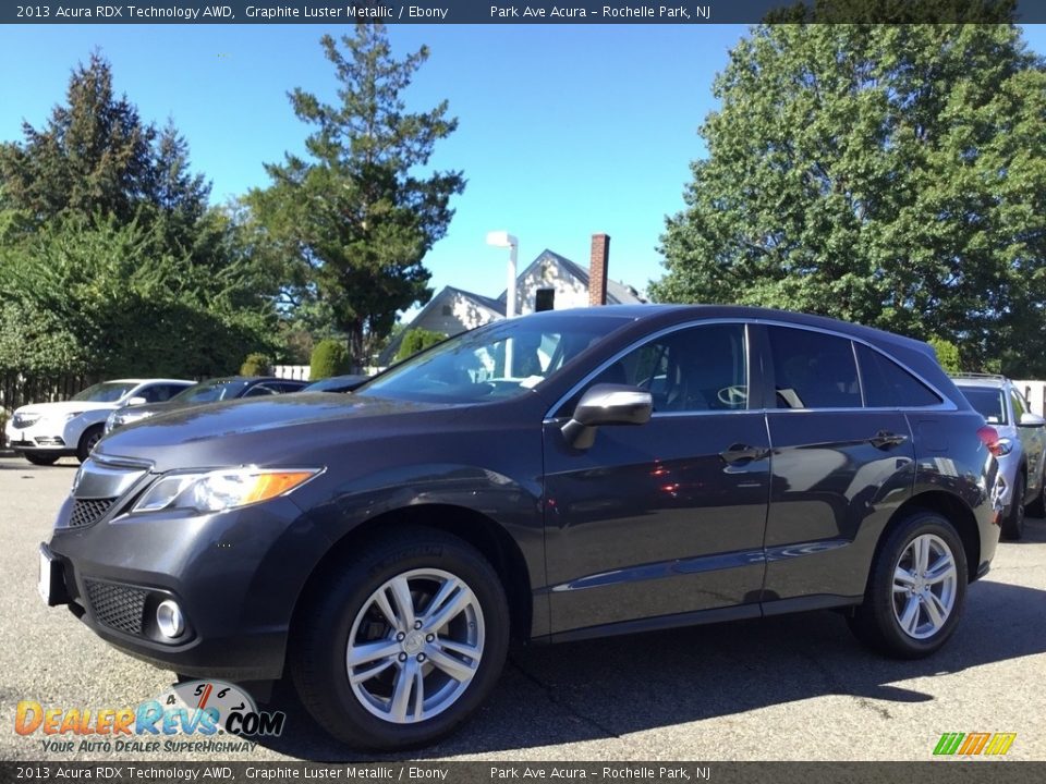
[(940, 632), (956, 605), (959, 573), (951, 548), (934, 534), (908, 543), (893, 567), (893, 617), (914, 639)]

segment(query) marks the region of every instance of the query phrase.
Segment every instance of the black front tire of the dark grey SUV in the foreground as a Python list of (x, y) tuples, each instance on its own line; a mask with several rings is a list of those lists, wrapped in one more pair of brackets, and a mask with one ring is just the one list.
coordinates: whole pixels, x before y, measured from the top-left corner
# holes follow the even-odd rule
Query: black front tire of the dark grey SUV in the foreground
[[(433, 574), (454, 577), (471, 590), (471, 599), (475, 602), (470, 602), (466, 610), (450, 615), (443, 626), (426, 627), (409, 635), (398, 632), (398, 628), (409, 627), (390, 624), (387, 616), (378, 612), (375, 597), (384, 597), (391, 609), (399, 611), (396, 593), (389, 592), (393, 589), (386, 591), (385, 588), (392, 580), (410, 579), (409, 596), (414, 605), (412, 613), (417, 612), (419, 618), (425, 617), (430, 609), (428, 603), (434, 600), (434, 593), (440, 585), (438, 581), (429, 583), (430, 588), (426, 589), (426, 579)], [(454, 584), (448, 579), (445, 585)], [(426, 593), (426, 590), (429, 592)], [(352, 747), (388, 751), (433, 743), (467, 719), (501, 674), (509, 644), (509, 609), (504, 589), (494, 568), (478, 551), (442, 531), (404, 528), (372, 542), (350, 563), (339, 564), (338, 568), (320, 577), (305, 601), (293, 624), (291, 676), (302, 705), (317, 723)], [(455, 603), (448, 601), (441, 607)], [(450, 642), (452, 627), (465, 634), (481, 635), (479, 656), (473, 660), (464, 657), (474, 666), (474, 674), (467, 679), (453, 679), (445, 670), (434, 666), (435, 658), (419, 663), (426, 659), (424, 652), (430, 657), (447, 653), (439, 642), (445, 638), (446, 642)], [(417, 629), (417, 626), (413, 628)], [(429, 630), (437, 633), (435, 646), (429, 645), (434, 636), (425, 636)], [(361, 670), (369, 670), (373, 662), (384, 664), (385, 670), (352, 685), (346, 664), (350, 638), (357, 646), (369, 642), (400, 646), (397, 649), (399, 652), (358, 665), (357, 676)], [(421, 639), (425, 641), (419, 642)], [(416, 645), (424, 645), (424, 648), (413, 647)], [(408, 650), (411, 652), (406, 653)], [(430, 718), (410, 720), (408, 716), (408, 720), (396, 721), (391, 713), (397, 686), (401, 682), (411, 684), (405, 687), (404, 702), (409, 706), (405, 710), (413, 712), (416, 718), (417, 705), (413, 700), (418, 694), (417, 681), (409, 673), (416, 674), (426, 666), (427, 674), (421, 670), (423, 693), (434, 699), (443, 691), (455, 696), (448, 698), (446, 706), (439, 707), (441, 703), (436, 702), (438, 711)], [(435, 687), (430, 684), (435, 684)], [(388, 693), (389, 715), (385, 718), (376, 712), (384, 707), (378, 705), (384, 694), (375, 697), (375, 693), (381, 689)]]

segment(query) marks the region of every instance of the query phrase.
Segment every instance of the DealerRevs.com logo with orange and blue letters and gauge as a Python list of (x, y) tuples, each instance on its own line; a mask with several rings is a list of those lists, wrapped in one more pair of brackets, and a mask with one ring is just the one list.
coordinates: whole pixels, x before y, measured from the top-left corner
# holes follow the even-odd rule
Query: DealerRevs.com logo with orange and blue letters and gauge
[[(42, 750), (51, 752), (250, 751), (251, 736), (280, 735), (285, 720), (281, 711), (259, 711), (234, 684), (191, 681), (136, 708), (45, 708), (22, 700), (14, 731), (42, 735)], [(215, 738), (227, 733), (242, 737)]]

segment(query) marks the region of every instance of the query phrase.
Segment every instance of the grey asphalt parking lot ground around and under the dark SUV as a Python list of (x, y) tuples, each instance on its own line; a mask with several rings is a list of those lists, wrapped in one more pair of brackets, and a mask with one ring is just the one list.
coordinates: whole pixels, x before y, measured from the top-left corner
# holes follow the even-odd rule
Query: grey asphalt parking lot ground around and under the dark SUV
[[(108, 759), (48, 752), (14, 732), (15, 706), (100, 710), (155, 698), (173, 675), (109, 648), (36, 592), (76, 461), (0, 457), (0, 759)], [(1017, 733), (1008, 758), (1046, 759), (1046, 522), (1002, 543), (938, 656), (866, 652), (841, 615), (819, 612), (510, 656), (492, 699), (422, 759), (931, 759), (946, 732)], [(224, 759), (355, 760), (293, 705), (282, 736)], [(76, 738), (77, 742), (80, 738)], [(142, 759), (142, 755), (122, 755)], [(198, 755), (195, 759), (208, 759)], [(157, 754), (149, 759), (170, 759)], [(179, 755), (178, 759), (194, 759)]]

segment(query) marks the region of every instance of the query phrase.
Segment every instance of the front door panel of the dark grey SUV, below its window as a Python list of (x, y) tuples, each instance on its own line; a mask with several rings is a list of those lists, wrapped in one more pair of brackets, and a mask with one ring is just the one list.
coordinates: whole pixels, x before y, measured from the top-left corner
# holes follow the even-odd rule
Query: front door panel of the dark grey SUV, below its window
[[(739, 443), (762, 458), (723, 462)], [(581, 455), (546, 425), (552, 632), (758, 601), (767, 446), (759, 413), (604, 427)]]

